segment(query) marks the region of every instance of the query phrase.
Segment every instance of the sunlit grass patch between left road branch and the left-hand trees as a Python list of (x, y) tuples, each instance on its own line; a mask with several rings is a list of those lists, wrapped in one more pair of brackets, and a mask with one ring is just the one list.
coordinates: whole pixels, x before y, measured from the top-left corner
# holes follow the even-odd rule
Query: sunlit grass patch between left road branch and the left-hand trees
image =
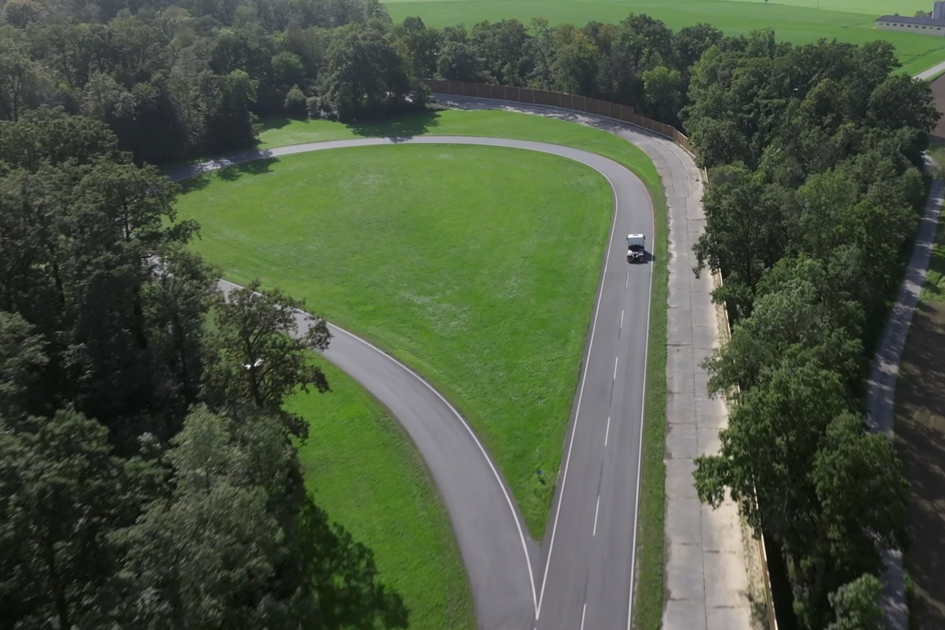
[(332, 391), (286, 405), (311, 424), (299, 449), (305, 486), (374, 552), (385, 583), (404, 596), (411, 628), (474, 630), (466, 572), (420, 454), (358, 383), (318, 364)]

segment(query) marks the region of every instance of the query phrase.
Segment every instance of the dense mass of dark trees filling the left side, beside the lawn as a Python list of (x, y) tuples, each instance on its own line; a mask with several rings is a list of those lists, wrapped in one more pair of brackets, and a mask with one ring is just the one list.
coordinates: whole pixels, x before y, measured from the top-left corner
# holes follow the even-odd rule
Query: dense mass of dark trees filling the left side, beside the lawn
[(224, 299), (178, 187), (105, 123), (40, 108), (0, 139), (0, 625), (406, 627), (282, 409), (329, 387), (325, 321)]

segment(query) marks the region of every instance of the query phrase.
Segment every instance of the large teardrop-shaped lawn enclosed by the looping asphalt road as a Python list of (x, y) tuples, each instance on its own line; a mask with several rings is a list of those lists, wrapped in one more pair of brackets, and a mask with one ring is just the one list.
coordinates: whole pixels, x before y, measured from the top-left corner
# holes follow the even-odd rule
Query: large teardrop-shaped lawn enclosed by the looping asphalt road
[[(262, 168), (261, 168), (262, 167)], [(388, 145), (198, 181), (180, 217), (227, 279), (260, 278), (417, 368), (485, 442), (541, 537), (575, 394), (610, 186), (541, 153)], [(205, 187), (204, 187), (205, 186)]]

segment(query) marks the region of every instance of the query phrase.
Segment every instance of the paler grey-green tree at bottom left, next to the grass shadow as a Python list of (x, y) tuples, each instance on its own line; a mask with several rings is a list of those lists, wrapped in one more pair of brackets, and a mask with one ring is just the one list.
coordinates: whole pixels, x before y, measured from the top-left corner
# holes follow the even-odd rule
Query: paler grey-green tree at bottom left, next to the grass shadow
[[(241, 443), (241, 433), (259, 443)], [(240, 425), (201, 407), (172, 445), (172, 495), (149, 503), (112, 536), (124, 552), (119, 577), (129, 588), (120, 619), (155, 629), (311, 623), (314, 600), (280, 574), (288, 548), (269, 508), (293, 474), (294, 449), (278, 423), (257, 417)], [(257, 447), (262, 452), (254, 453)]]

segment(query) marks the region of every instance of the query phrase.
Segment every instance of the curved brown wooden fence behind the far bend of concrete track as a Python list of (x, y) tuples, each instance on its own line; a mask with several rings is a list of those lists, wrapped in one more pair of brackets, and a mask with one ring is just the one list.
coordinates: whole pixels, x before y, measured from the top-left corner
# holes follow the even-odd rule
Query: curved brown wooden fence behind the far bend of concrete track
[(607, 116), (637, 127), (649, 129), (675, 142), (677, 145), (696, 155), (696, 147), (689, 142), (689, 138), (679, 132), (679, 129), (659, 121), (641, 116), (633, 111), (629, 105), (602, 101), (599, 98), (564, 94), (563, 92), (549, 92), (532, 88), (517, 88), (510, 85), (491, 85), (490, 83), (467, 83), (465, 81), (447, 81), (437, 78), (425, 78), (423, 82), (436, 94), (453, 94), (455, 96), (476, 96), (479, 98), (495, 98), (517, 103), (534, 105), (549, 105), (565, 110), (584, 111), (586, 113)]

